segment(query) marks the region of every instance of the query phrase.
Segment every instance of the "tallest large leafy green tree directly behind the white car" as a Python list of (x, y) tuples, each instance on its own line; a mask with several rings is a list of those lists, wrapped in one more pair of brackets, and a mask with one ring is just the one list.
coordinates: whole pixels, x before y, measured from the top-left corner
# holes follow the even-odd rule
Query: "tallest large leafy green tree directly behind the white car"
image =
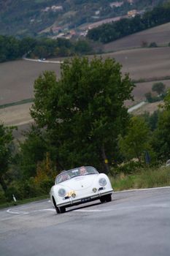
[(133, 89), (114, 59), (75, 57), (61, 65), (60, 80), (54, 72), (40, 75), (31, 116), (47, 129), (56, 162), (64, 168), (96, 165), (107, 172), (128, 121), (124, 101)]

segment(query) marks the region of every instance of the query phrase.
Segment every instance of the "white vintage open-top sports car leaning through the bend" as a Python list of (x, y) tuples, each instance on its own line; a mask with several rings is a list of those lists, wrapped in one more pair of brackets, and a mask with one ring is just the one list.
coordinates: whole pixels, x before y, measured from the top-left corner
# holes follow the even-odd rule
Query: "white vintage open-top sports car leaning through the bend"
[(55, 185), (50, 190), (50, 199), (58, 214), (66, 207), (101, 200), (112, 200), (112, 185), (104, 173), (98, 173), (94, 167), (77, 167), (65, 170), (55, 178)]

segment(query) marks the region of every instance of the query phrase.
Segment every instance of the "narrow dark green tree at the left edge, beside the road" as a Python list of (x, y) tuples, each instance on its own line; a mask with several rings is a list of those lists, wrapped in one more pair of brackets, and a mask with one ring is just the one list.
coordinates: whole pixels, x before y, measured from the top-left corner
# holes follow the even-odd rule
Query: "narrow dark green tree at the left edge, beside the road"
[(14, 128), (0, 124), (0, 184), (4, 192), (7, 191), (5, 175), (12, 160), (12, 129)]

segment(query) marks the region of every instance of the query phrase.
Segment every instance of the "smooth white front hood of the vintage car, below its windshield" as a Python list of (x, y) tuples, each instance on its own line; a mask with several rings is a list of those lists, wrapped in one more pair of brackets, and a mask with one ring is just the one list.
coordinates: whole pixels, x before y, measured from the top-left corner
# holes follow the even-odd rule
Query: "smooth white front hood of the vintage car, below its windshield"
[(74, 178), (69, 179), (69, 181), (64, 181), (62, 185), (68, 187), (72, 190), (79, 190), (79, 189), (88, 189), (93, 185), (98, 174), (89, 174), (85, 176), (77, 176)]

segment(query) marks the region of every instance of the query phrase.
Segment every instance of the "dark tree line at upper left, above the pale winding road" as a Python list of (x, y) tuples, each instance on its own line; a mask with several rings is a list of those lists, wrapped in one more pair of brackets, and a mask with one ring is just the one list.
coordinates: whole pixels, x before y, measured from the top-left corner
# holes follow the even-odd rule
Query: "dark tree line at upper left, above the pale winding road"
[(0, 62), (20, 59), (24, 54), (33, 59), (74, 56), (91, 53), (93, 46), (85, 39), (35, 39), (0, 36)]

